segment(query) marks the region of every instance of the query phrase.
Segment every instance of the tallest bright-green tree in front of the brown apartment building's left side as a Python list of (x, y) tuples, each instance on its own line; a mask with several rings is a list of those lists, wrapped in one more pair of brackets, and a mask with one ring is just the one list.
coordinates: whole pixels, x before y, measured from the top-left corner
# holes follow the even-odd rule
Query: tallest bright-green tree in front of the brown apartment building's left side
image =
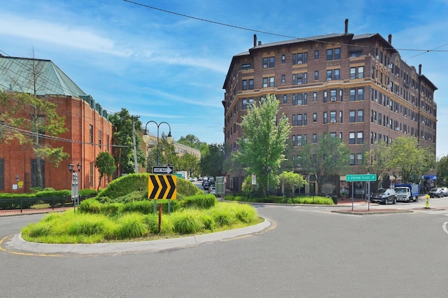
[[(267, 94), (260, 102), (248, 106), (241, 123), (243, 134), (237, 143), (239, 150), (233, 159), (244, 166), (247, 173), (257, 175), (260, 190), (269, 191), (269, 182), (276, 183), (276, 172), (285, 159), (283, 151), (290, 133), (285, 115), (277, 118), (279, 101)], [(272, 185), (271, 186), (276, 186)]]

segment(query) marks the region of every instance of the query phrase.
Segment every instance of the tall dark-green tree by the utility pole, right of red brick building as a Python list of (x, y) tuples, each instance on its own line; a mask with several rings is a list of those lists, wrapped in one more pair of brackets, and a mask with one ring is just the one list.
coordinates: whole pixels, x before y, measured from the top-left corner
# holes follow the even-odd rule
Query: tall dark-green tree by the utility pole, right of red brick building
[[(115, 132), (113, 133), (114, 143), (116, 146), (113, 150), (113, 157), (118, 164), (118, 176), (123, 173), (134, 173), (134, 138), (132, 132), (132, 121), (134, 119), (134, 127), (136, 131), (141, 128), (141, 121), (132, 117), (126, 108), (122, 108), (120, 112), (112, 114), (109, 117)], [(141, 150), (141, 137), (139, 134), (135, 136), (137, 147), (137, 163), (146, 166), (145, 152)]]

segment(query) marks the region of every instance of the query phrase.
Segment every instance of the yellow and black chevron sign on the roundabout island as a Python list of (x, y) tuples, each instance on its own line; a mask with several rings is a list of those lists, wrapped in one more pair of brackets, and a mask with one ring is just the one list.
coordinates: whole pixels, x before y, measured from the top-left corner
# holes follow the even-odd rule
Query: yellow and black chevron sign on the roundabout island
[(149, 175), (148, 199), (177, 199), (177, 176)]

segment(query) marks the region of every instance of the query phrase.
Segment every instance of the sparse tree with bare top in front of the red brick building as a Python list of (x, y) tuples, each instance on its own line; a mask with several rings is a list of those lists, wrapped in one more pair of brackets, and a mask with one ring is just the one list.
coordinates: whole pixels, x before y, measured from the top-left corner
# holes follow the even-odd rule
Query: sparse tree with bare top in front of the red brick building
[(16, 140), (20, 145), (33, 148), (36, 156), (35, 187), (43, 187), (43, 160), (57, 167), (62, 159), (69, 157), (64, 147), (54, 148), (48, 141), (49, 137), (59, 136), (67, 129), (65, 118), (57, 114), (57, 106), (49, 99), (38, 96), (41, 86), (48, 80), (43, 66), (43, 61), (29, 59), (29, 63), (23, 66), (25, 71), (17, 78), (11, 78), (11, 86), (22, 90), (22, 93), (0, 90), (1, 104), (8, 107), (0, 119), (8, 129), (3, 131), (0, 138), (5, 143)]

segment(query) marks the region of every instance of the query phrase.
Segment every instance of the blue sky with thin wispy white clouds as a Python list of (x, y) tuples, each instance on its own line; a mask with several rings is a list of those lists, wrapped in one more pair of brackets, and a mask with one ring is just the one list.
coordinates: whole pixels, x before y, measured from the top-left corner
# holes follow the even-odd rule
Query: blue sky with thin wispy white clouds
[[(448, 0), (14, 0), (0, 10), (0, 53), (50, 59), (107, 111), (168, 122), (177, 140), (223, 143), (233, 55), (258, 41), (378, 33), (437, 87), (437, 152), (448, 155)], [(272, 3), (279, 3), (275, 6)], [(148, 8), (145, 6), (152, 6)], [(204, 22), (211, 20), (265, 34)], [(437, 50), (423, 52), (419, 50)], [(155, 133), (155, 125), (148, 125)], [(161, 125), (160, 132), (167, 133)]]

